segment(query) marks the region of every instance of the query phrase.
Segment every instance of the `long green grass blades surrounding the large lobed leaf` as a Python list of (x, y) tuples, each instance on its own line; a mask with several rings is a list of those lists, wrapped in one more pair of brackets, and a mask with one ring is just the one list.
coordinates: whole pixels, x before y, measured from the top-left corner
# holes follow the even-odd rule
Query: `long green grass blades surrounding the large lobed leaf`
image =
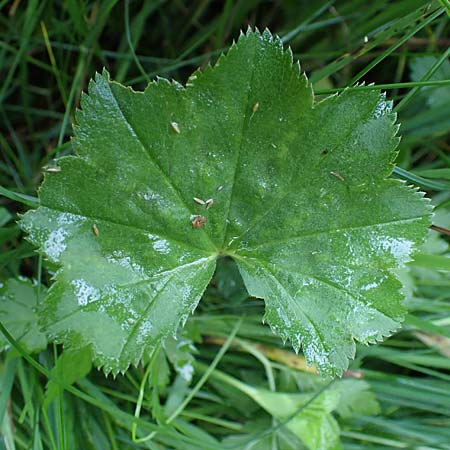
[[(30, 0), (0, 8), (0, 280), (51, 284), (52, 268), (15, 221), (36, 205), (42, 168), (72, 151), (71, 123), (94, 73), (105, 66), (135, 89), (157, 75), (185, 81), (249, 25), (292, 47), (319, 98), (347, 87), (386, 90), (402, 124), (394, 176), (425, 190), (435, 225), (450, 227), (448, 0)], [(450, 449), (448, 242), (430, 231), (402, 273), (402, 330), (360, 347), (345, 374), (368, 383), (380, 412), (337, 416), (343, 448)], [(184, 332), (197, 349), (190, 384), (169, 372), (160, 351), (115, 379), (94, 369), (47, 405), (62, 348), (3, 352), (0, 449), (302, 448), (239, 387), (317, 394), (336, 382), (305, 371), (260, 323), (262, 303), (247, 298), (228, 261), (205, 297)]]

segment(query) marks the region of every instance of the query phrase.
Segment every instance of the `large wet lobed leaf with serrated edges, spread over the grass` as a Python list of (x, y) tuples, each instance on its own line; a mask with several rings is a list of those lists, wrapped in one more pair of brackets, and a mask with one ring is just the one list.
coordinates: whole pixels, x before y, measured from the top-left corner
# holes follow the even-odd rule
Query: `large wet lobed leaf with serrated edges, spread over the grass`
[(76, 156), (47, 173), (22, 221), (60, 266), (41, 311), (47, 333), (125, 370), (175, 333), (228, 255), (272, 328), (341, 373), (355, 340), (399, 327), (392, 270), (429, 221), (422, 194), (386, 179), (394, 120), (374, 91), (314, 104), (269, 32), (242, 35), (186, 87), (158, 79), (135, 92), (97, 75)]

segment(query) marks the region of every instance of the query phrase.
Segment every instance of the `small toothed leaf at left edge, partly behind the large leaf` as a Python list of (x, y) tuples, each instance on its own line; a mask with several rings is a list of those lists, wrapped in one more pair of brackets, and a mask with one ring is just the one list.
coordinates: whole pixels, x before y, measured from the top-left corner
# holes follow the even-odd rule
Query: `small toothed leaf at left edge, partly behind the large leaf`
[[(0, 283), (0, 322), (26, 351), (33, 353), (47, 347), (45, 334), (39, 330), (36, 307), (38, 287), (27, 279), (11, 278)], [(0, 333), (0, 350), (10, 346)]]

